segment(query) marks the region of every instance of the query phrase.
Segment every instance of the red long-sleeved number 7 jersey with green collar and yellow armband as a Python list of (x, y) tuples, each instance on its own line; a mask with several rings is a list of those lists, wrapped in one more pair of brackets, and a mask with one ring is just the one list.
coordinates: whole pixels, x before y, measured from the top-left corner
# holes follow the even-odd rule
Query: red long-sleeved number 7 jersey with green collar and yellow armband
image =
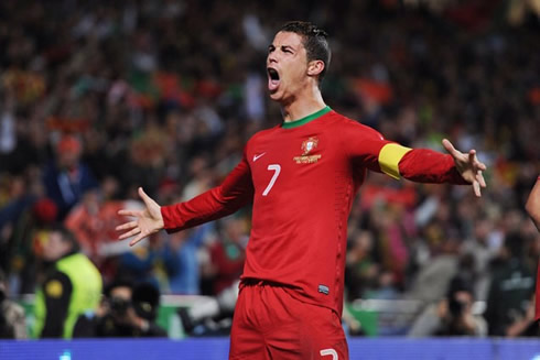
[(465, 184), (452, 156), (400, 146), (326, 107), (255, 134), (220, 186), (162, 207), (164, 227), (190, 228), (252, 201), (241, 279), (283, 284), (291, 296), (341, 316), (347, 218), (367, 170)]

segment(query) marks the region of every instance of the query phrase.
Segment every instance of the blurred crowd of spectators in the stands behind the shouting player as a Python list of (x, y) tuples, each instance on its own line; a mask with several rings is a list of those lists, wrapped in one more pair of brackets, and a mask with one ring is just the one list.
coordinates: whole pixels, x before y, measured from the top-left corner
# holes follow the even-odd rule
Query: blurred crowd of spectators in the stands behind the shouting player
[(142, 206), (139, 186), (165, 205), (219, 184), (247, 140), (280, 123), (267, 47), (302, 19), (331, 35), (322, 86), (333, 109), (407, 146), (443, 151), (449, 138), (489, 167), (480, 199), (370, 174), (349, 219), (347, 302), (423, 302), (413, 336), (532, 334), (540, 237), (523, 204), (540, 173), (537, 10), (511, 0), (1, 1), (2, 294), (40, 291), (58, 223), (109, 294), (118, 283), (212, 296), (235, 286), (249, 208), (134, 248), (116, 240), (117, 211)]

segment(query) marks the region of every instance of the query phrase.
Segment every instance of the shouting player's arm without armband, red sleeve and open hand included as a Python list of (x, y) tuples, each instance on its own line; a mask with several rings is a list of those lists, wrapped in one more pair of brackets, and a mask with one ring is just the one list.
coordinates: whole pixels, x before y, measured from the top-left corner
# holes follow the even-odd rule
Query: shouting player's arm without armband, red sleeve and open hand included
[(139, 211), (120, 210), (120, 215), (131, 216), (134, 220), (116, 228), (125, 231), (120, 234), (120, 240), (134, 236), (130, 246), (161, 229), (179, 231), (230, 215), (252, 200), (253, 185), (249, 165), (244, 157), (222, 185), (188, 201), (160, 206), (142, 188), (139, 188), (139, 196), (145, 208)]

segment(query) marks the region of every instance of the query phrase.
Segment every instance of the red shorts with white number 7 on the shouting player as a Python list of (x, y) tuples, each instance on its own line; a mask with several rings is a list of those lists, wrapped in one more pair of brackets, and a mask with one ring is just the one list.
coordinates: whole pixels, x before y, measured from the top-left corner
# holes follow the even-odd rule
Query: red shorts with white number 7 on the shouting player
[(339, 316), (302, 303), (291, 288), (268, 282), (242, 284), (230, 334), (230, 360), (347, 360)]

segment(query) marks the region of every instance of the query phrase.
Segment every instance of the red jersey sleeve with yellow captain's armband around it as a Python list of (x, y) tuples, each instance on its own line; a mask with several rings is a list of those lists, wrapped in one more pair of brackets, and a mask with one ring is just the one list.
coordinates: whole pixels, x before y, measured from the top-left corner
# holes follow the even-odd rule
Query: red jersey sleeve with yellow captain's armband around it
[(343, 133), (346, 134), (345, 146), (349, 155), (371, 171), (417, 183), (467, 184), (449, 154), (402, 146), (358, 123), (349, 124), (349, 129)]

